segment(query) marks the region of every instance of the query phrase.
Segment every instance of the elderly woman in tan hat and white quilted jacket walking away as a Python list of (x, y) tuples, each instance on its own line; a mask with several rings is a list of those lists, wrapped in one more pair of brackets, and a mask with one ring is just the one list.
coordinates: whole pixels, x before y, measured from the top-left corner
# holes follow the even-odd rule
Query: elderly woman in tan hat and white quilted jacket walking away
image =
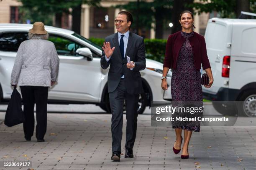
[(36, 22), (17, 52), (11, 85), (20, 86), (24, 104), (23, 130), (25, 139), (31, 140), (34, 132), (34, 105), (36, 103), (36, 138), (44, 142), (47, 124), (48, 88), (54, 85), (59, 72), (59, 57), (54, 43), (48, 41), (44, 23)]

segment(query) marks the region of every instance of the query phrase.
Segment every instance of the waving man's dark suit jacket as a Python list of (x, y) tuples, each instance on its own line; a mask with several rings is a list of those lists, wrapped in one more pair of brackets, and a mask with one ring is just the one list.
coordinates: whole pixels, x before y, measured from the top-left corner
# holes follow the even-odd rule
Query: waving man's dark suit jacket
[[(103, 69), (107, 69), (110, 65), (108, 72), (108, 92), (113, 92), (116, 87), (118, 87), (120, 79), (122, 75), (124, 75), (126, 91), (129, 94), (135, 95), (143, 93), (140, 74), (140, 70), (144, 70), (146, 67), (145, 45), (143, 37), (132, 32), (129, 33), (124, 59), (121, 56), (119, 48), (118, 32), (106, 37), (105, 42), (110, 42), (111, 48), (115, 47), (115, 50), (108, 62), (105, 60), (105, 53), (103, 50), (100, 60), (100, 65)], [(126, 66), (126, 55), (130, 57), (131, 61), (135, 62), (135, 67), (133, 70), (130, 70)]]

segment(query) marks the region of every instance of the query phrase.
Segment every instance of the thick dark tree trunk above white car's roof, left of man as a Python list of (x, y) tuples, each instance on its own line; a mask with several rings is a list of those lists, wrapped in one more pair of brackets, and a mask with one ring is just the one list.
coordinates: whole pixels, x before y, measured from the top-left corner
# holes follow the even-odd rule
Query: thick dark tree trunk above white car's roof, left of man
[(81, 30), (81, 5), (79, 4), (72, 9), (72, 30), (78, 34), (80, 34)]

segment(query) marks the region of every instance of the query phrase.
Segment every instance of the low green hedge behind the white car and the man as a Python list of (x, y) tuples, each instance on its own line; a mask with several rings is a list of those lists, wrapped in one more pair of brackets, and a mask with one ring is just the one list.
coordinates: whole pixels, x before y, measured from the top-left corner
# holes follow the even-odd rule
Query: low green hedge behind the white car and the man
[[(90, 41), (102, 46), (103, 38), (90, 38)], [(144, 39), (146, 47), (146, 58), (164, 62), (164, 53), (167, 40), (162, 39)]]

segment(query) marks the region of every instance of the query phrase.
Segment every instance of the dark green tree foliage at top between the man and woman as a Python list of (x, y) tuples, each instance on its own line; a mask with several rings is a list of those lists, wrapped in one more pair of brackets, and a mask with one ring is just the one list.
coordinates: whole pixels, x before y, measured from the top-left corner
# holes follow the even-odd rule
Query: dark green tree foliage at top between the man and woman
[(151, 28), (151, 23), (155, 23), (156, 38), (163, 38), (163, 28), (167, 20), (171, 20), (173, 0), (137, 0), (125, 5), (117, 5), (116, 8), (123, 8), (133, 14), (133, 28)]

